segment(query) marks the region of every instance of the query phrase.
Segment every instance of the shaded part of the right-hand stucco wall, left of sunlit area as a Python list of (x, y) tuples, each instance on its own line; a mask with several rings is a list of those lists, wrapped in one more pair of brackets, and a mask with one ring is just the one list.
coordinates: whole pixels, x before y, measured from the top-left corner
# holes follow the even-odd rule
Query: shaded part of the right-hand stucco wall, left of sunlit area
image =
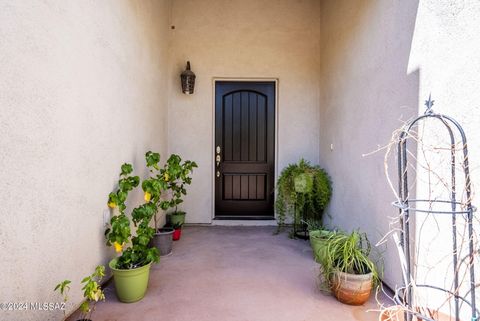
[[(418, 113), (419, 70), (408, 70), (417, 9), (418, 1), (321, 4), (320, 162), (333, 181), (329, 223), (359, 228), (373, 244), (397, 215), (378, 149)], [(396, 187), (395, 162), (389, 171)], [(394, 287), (401, 270), (394, 244), (386, 247), (384, 280)]]

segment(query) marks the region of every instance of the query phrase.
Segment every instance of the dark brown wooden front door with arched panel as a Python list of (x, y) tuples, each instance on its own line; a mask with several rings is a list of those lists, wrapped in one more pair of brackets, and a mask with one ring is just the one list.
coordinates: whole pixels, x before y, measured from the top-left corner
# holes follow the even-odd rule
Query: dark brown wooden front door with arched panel
[(215, 217), (273, 219), (275, 83), (215, 83)]

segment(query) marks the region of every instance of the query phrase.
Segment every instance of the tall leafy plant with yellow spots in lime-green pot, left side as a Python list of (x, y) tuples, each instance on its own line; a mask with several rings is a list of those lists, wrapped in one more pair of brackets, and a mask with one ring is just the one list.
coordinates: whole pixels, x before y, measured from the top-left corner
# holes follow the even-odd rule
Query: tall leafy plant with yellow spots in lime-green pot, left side
[(133, 176), (132, 172), (131, 164), (122, 165), (118, 189), (108, 197), (108, 206), (118, 207), (119, 213), (112, 216), (110, 226), (105, 231), (107, 245), (113, 246), (119, 254), (110, 261), (109, 267), (113, 272), (117, 297), (122, 302), (135, 302), (144, 297), (150, 267), (159, 261), (157, 248), (149, 245), (155, 233), (149, 224), (157, 212), (156, 204), (146, 194), (146, 202), (132, 210), (134, 233), (130, 217), (125, 212), (129, 192), (140, 183), (139, 177)]

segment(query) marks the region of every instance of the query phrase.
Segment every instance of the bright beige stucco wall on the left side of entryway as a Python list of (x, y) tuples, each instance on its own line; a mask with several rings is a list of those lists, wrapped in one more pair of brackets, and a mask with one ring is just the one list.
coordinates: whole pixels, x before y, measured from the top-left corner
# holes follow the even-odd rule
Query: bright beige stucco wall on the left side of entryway
[(159, 0), (0, 2), (0, 302), (58, 302), (68, 278), (71, 312), (113, 255), (102, 216), (120, 165), (143, 175), (145, 151), (167, 151), (169, 15)]

